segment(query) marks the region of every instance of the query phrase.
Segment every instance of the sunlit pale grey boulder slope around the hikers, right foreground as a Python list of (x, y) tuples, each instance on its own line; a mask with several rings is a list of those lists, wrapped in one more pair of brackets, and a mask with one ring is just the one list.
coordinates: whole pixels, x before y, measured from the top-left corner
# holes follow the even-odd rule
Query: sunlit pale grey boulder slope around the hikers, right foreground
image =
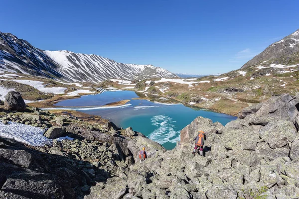
[[(128, 199), (298, 198), (297, 98), (283, 95), (246, 108), (226, 126), (197, 117), (175, 149), (135, 161), (122, 179), (95, 186), (86, 199), (109, 198), (114, 186), (114, 198)], [(206, 132), (204, 157), (190, 149), (199, 130)], [(130, 151), (145, 145), (142, 138), (128, 142)]]

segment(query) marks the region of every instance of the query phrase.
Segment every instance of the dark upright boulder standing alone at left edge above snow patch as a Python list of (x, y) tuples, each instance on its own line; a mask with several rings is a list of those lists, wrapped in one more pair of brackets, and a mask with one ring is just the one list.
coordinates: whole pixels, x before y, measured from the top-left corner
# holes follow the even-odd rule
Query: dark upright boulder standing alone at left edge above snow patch
[(26, 104), (19, 92), (9, 91), (4, 100), (4, 108), (8, 110), (25, 110)]

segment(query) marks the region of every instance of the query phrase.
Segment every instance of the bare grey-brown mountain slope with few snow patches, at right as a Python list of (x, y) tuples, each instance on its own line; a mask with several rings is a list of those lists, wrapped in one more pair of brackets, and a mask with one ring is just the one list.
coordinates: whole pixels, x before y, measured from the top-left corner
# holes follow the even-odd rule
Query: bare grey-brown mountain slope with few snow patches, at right
[(263, 52), (248, 61), (241, 69), (264, 64), (294, 65), (299, 63), (299, 29), (282, 40), (271, 44)]

